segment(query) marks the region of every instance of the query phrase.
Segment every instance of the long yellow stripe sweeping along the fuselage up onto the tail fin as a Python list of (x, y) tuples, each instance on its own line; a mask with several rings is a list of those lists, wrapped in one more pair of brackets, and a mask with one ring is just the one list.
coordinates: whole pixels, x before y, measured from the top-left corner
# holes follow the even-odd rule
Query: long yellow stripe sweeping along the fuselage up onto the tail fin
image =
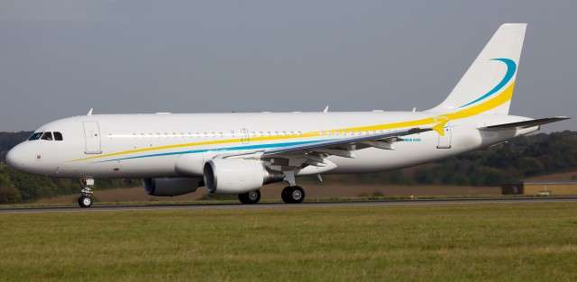
[[(371, 131), (382, 131), (382, 130), (392, 130), (392, 129), (399, 129), (399, 128), (407, 128), (407, 127), (415, 127), (421, 125), (428, 125), (436, 123), (434, 129), (439, 134), (443, 134), (442, 129), (445, 123), (448, 123), (451, 120), (458, 120), (467, 117), (471, 117), (473, 115), (481, 114), (491, 109), (498, 107), (499, 105), (503, 105), (504, 103), (508, 102), (511, 97), (513, 96), (513, 89), (515, 87), (515, 82), (511, 83), (503, 92), (501, 92), (498, 96), (488, 100), (487, 102), (475, 105), (469, 108), (465, 108), (460, 111), (456, 111), (449, 114), (441, 114), (437, 116), (427, 117), (423, 119), (418, 119), (414, 121), (406, 121), (406, 122), (398, 122), (398, 123), (383, 123), (383, 124), (375, 124), (375, 125), (368, 125), (368, 126), (359, 126), (359, 127), (349, 127), (349, 128), (342, 128), (342, 129), (334, 129), (330, 130), (332, 133), (347, 133), (347, 132), (371, 132)], [(289, 140), (289, 139), (296, 139), (296, 138), (310, 138), (310, 137), (318, 137), (321, 135), (321, 132), (304, 132), (302, 134), (290, 134), (285, 136), (261, 136), (261, 137), (252, 137), (251, 141), (277, 141), (277, 140)], [(94, 157), (88, 157), (84, 159), (72, 159), (70, 161), (78, 161), (78, 160), (87, 160), (87, 159), (102, 159), (107, 157), (114, 157), (124, 154), (133, 154), (133, 153), (140, 153), (145, 151), (151, 150), (166, 150), (166, 149), (174, 149), (174, 148), (183, 148), (183, 147), (195, 147), (195, 146), (203, 146), (203, 145), (215, 145), (215, 144), (227, 144), (227, 143), (239, 143), (242, 142), (240, 138), (235, 139), (227, 139), (227, 140), (216, 140), (216, 141), (198, 141), (198, 142), (189, 142), (189, 143), (182, 143), (182, 144), (173, 144), (173, 145), (166, 145), (166, 146), (158, 146), (158, 147), (151, 147), (151, 148), (142, 148), (142, 149), (134, 149), (134, 150), (123, 150), (117, 151), (114, 153), (108, 153), (103, 155), (98, 155)]]

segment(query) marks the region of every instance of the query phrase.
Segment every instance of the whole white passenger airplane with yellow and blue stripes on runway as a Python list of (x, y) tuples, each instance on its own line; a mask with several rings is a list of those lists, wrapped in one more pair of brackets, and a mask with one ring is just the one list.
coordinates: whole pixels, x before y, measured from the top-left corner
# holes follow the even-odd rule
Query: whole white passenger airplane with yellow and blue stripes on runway
[(287, 204), (305, 199), (297, 177), (416, 166), (489, 148), (565, 116), (509, 115), (526, 23), (505, 23), (444, 101), (417, 112), (92, 114), (42, 125), (6, 155), (9, 166), (81, 179), (140, 177), (152, 196), (205, 186), (256, 204), (265, 184), (286, 182)]

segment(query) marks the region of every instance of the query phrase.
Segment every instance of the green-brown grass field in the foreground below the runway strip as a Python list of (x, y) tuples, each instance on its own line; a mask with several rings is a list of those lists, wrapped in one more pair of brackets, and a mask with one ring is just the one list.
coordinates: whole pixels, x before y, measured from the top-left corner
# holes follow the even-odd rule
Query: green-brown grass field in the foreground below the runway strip
[(0, 281), (577, 281), (575, 203), (0, 214)]

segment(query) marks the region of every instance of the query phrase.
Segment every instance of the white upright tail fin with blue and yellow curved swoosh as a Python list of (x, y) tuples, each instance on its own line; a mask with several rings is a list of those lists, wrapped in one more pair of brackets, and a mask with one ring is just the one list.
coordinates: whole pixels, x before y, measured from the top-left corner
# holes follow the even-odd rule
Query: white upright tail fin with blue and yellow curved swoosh
[(527, 23), (502, 24), (451, 94), (429, 111), (447, 113), (501, 99), (480, 114), (508, 114), (526, 28)]

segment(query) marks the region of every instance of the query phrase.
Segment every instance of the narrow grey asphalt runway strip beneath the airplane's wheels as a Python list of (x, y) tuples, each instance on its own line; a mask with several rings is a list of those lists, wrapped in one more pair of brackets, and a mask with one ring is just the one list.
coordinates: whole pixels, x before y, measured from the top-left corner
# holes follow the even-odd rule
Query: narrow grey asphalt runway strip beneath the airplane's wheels
[(283, 208), (386, 206), (386, 205), (464, 205), (464, 204), (496, 204), (496, 203), (522, 204), (522, 203), (552, 203), (552, 202), (577, 203), (577, 196), (371, 200), (371, 201), (351, 201), (351, 202), (310, 202), (297, 205), (287, 205), (283, 203), (266, 203), (258, 205), (241, 205), (241, 204), (95, 205), (91, 208), (80, 208), (78, 206), (14, 207), (14, 208), (0, 207), (0, 214), (42, 214), (42, 213), (55, 213), (55, 212), (92, 213), (92, 212), (151, 211), (151, 210), (283, 209)]

